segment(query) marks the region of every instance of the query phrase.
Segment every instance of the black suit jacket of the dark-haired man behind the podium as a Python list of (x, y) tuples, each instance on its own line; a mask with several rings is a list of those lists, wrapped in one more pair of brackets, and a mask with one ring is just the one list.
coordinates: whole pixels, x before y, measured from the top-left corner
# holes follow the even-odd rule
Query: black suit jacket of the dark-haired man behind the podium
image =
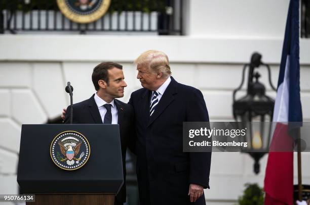
[[(82, 101), (81, 103), (73, 104), (73, 124), (102, 124), (102, 119), (94, 99), (91, 98)], [(129, 104), (125, 104), (118, 99), (114, 99), (114, 103), (118, 109), (118, 124), (120, 125), (120, 136), (123, 157), (124, 185), (117, 195), (117, 200), (120, 202), (126, 201), (126, 149), (130, 147), (133, 140), (130, 140), (133, 131), (133, 109)], [(64, 123), (69, 123), (70, 106), (67, 108)]]

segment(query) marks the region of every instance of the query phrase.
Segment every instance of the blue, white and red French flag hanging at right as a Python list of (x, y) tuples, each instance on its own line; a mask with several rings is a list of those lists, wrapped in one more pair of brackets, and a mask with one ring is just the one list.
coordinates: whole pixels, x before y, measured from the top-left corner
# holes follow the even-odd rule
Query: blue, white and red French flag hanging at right
[(273, 121), (276, 122), (276, 127), (265, 172), (264, 204), (292, 205), (293, 138), (289, 135), (289, 122), (302, 122), (299, 87), (299, 0), (291, 0), (289, 5)]

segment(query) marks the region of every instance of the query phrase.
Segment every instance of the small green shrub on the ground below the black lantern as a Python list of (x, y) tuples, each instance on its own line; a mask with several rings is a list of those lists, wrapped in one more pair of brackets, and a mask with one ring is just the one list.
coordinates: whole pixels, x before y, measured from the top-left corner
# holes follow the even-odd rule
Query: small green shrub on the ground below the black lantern
[(239, 205), (263, 205), (264, 192), (257, 184), (245, 184), (243, 196), (239, 197)]

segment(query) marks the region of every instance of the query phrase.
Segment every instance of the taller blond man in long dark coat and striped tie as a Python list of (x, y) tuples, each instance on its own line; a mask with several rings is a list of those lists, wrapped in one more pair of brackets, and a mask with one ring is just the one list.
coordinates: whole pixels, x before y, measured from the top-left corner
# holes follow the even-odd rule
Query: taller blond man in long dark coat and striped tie
[[(207, 122), (200, 90), (171, 77), (167, 55), (148, 50), (135, 61), (143, 88), (131, 94), (141, 205), (206, 204), (211, 152), (183, 152), (183, 122)], [(189, 195), (189, 196), (188, 196)]]

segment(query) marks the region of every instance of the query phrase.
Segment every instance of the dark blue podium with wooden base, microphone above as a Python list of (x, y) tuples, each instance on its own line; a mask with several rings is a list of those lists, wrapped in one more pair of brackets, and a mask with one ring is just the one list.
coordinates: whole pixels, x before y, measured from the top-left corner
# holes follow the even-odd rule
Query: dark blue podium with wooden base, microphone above
[[(52, 142), (66, 132), (88, 141), (89, 158), (79, 169), (53, 161)], [(17, 181), (22, 194), (35, 194), (27, 204), (113, 205), (124, 181), (119, 125), (22, 125)]]

